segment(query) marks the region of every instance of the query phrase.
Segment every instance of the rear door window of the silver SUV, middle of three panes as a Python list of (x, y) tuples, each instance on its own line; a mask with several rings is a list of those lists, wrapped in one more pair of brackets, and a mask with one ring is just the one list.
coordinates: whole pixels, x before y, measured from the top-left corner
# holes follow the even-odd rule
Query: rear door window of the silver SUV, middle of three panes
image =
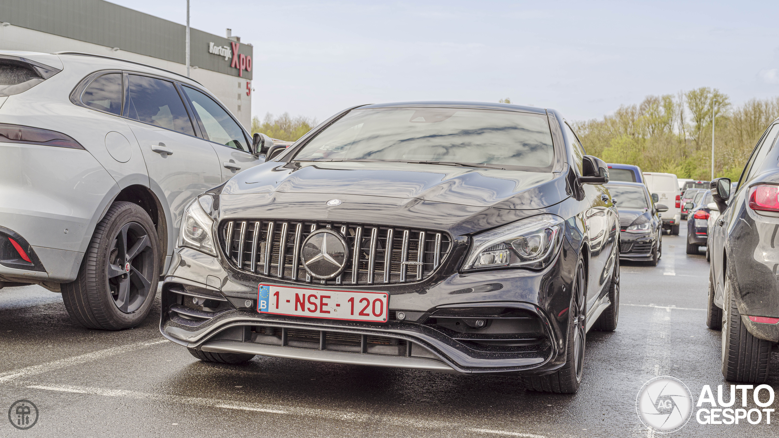
[(149, 76), (129, 75), (130, 92), (125, 115), (184, 134), (195, 135), (189, 114), (173, 82)]

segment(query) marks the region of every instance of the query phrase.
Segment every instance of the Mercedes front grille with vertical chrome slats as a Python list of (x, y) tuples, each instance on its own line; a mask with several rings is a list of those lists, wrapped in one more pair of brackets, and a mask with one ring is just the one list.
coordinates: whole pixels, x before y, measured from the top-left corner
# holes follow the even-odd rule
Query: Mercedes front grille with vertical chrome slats
[[(320, 236), (322, 230), (331, 237)], [(312, 237), (312, 233), (319, 238)], [(432, 275), (452, 249), (451, 237), (435, 230), (354, 223), (238, 219), (221, 223), (219, 235), (220, 247), (233, 268), (269, 278), (330, 286), (419, 282)], [(312, 244), (323, 242), (329, 246), (312, 249)], [(304, 251), (305, 247), (308, 249)], [(335, 266), (335, 274), (330, 270), (328, 275), (320, 275), (326, 266), (306, 268), (305, 254), (328, 251), (334, 258), (317, 259), (343, 260), (342, 266)], [(343, 255), (339, 258), (338, 254)]]

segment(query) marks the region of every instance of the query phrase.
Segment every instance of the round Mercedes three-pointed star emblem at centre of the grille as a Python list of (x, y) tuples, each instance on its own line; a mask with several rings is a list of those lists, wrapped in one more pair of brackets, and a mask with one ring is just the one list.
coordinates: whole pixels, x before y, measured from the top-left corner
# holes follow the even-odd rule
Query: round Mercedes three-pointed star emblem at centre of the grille
[(344, 271), (347, 243), (333, 230), (315, 230), (303, 240), (301, 262), (308, 274), (316, 279), (332, 279)]

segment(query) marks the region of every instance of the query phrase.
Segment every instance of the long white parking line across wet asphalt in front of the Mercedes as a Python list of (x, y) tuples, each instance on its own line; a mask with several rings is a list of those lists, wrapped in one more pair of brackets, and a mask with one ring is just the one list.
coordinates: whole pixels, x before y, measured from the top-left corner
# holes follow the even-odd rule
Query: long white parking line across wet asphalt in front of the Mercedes
[[(31, 383), (31, 382), (28, 382)], [(298, 408), (295, 406), (264, 405), (248, 401), (238, 400), (220, 400), (218, 398), (185, 397), (179, 395), (150, 394), (139, 391), (129, 391), (121, 389), (103, 389), (97, 387), (79, 387), (62, 386), (51, 387), (46, 385), (32, 384), (26, 386), (30, 389), (43, 391), (69, 392), (73, 394), (99, 395), (103, 397), (132, 398), (136, 400), (160, 401), (163, 403), (179, 403), (182, 405), (197, 405), (209, 408), (237, 409), (249, 412), (266, 412), (278, 415), (300, 415), (314, 416), (324, 419), (347, 420), (354, 422), (381, 422), (382, 426), (405, 426), (421, 429), (452, 429), (458, 425), (453, 422), (432, 421), (414, 415), (375, 415), (375, 413), (359, 413), (346, 410), (316, 409), (316, 408)], [(543, 435), (532, 435), (530, 433), (509, 432), (492, 429), (465, 429), (471, 432), (495, 433), (507, 436), (526, 436), (528, 438), (547, 438)]]

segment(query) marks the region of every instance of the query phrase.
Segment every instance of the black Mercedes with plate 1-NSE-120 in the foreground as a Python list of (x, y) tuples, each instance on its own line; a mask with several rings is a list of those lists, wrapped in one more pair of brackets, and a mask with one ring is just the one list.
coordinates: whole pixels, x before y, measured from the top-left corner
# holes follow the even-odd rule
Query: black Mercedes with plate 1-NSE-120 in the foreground
[(617, 325), (619, 224), (606, 164), (559, 113), (364, 105), (274, 153), (187, 208), (163, 288), (166, 338), (214, 362), (578, 389), (587, 331)]

